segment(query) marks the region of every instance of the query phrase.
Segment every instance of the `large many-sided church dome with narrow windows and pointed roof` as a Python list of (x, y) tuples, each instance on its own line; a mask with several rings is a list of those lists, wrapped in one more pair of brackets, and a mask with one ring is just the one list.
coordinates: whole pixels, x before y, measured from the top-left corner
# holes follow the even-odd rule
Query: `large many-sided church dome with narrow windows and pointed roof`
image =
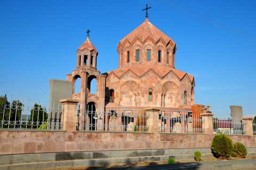
[(175, 42), (146, 19), (119, 42), (119, 68), (134, 64), (174, 68), (175, 51)]

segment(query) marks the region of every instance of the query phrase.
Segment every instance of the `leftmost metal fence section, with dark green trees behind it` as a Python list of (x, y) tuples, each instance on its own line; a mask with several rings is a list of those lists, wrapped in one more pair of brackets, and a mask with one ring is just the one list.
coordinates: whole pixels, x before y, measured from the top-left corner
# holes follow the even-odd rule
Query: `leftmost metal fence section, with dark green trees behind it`
[[(1, 97), (3, 99), (3, 97)], [(5, 96), (0, 106), (0, 129), (61, 130), (62, 111), (60, 105), (47, 109), (39, 102), (12, 100)]]

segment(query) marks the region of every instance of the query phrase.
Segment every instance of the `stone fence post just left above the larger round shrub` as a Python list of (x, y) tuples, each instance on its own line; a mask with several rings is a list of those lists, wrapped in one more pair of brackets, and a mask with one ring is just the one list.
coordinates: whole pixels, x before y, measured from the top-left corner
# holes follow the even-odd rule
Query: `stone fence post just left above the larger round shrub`
[(200, 114), (204, 123), (202, 124), (205, 134), (213, 134), (213, 114), (212, 113), (202, 113)]

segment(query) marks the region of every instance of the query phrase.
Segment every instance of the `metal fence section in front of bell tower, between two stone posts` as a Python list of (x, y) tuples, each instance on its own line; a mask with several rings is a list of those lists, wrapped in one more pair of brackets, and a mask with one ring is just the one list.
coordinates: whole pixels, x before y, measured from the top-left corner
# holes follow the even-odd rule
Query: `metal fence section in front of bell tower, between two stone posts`
[[(83, 114), (81, 122), (80, 114)], [(77, 129), (82, 131), (148, 132), (149, 129), (145, 110), (124, 107), (106, 108), (102, 112), (87, 108), (78, 111), (77, 122)]]

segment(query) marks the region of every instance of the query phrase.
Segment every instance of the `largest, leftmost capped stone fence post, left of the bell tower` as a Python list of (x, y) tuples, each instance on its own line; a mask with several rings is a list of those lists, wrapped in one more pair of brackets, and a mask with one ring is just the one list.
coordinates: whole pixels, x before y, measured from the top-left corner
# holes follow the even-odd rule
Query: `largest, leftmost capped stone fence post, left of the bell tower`
[(76, 131), (77, 123), (77, 99), (61, 99), (61, 108), (63, 111), (63, 131)]

